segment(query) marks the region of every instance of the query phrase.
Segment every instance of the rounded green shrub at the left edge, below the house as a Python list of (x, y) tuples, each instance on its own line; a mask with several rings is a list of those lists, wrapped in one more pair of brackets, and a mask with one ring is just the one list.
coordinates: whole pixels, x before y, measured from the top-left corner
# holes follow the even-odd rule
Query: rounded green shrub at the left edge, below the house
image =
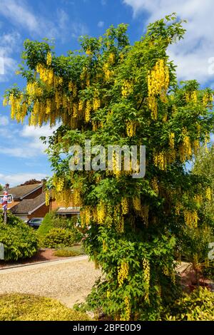
[(0, 242), (4, 244), (6, 261), (32, 257), (39, 249), (36, 232), (11, 213), (8, 213), (6, 225), (0, 215)]

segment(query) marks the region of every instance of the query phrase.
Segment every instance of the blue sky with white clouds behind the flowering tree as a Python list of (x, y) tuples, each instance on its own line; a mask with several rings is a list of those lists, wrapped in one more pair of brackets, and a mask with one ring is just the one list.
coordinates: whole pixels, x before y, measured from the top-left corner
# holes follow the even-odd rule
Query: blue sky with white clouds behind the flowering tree
[(214, 88), (214, 20), (212, 0), (0, 0), (0, 183), (16, 185), (51, 175), (41, 135), (49, 125), (17, 125), (2, 105), (6, 88), (24, 85), (14, 73), (26, 38), (55, 38), (56, 52), (78, 48), (78, 36), (99, 36), (111, 24), (129, 24), (131, 42), (146, 25), (173, 13), (188, 19), (185, 40), (168, 50), (180, 80), (197, 79)]

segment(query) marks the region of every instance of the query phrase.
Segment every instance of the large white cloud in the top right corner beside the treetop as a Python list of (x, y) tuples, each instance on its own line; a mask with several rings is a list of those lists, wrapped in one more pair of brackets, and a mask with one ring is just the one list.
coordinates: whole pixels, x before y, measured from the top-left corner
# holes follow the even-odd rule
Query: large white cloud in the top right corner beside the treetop
[(170, 46), (169, 55), (178, 65), (178, 78), (197, 79), (200, 83), (213, 80), (208, 73), (208, 59), (214, 56), (214, 20), (212, 0), (123, 0), (133, 9), (133, 16), (146, 14), (147, 24), (176, 12), (187, 32), (184, 40)]

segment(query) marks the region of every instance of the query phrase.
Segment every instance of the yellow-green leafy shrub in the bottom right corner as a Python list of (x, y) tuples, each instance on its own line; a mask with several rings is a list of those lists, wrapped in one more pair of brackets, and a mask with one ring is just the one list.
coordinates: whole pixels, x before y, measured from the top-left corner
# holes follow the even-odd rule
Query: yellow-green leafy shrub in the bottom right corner
[(214, 321), (214, 293), (199, 287), (175, 301), (165, 311), (167, 321)]

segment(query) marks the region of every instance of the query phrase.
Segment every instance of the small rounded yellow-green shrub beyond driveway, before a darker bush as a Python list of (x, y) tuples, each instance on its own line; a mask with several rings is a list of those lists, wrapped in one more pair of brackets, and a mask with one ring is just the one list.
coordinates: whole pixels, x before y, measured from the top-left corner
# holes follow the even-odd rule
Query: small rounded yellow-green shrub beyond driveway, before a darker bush
[(77, 232), (62, 228), (53, 228), (44, 237), (43, 244), (47, 248), (71, 247), (72, 244), (81, 239)]

